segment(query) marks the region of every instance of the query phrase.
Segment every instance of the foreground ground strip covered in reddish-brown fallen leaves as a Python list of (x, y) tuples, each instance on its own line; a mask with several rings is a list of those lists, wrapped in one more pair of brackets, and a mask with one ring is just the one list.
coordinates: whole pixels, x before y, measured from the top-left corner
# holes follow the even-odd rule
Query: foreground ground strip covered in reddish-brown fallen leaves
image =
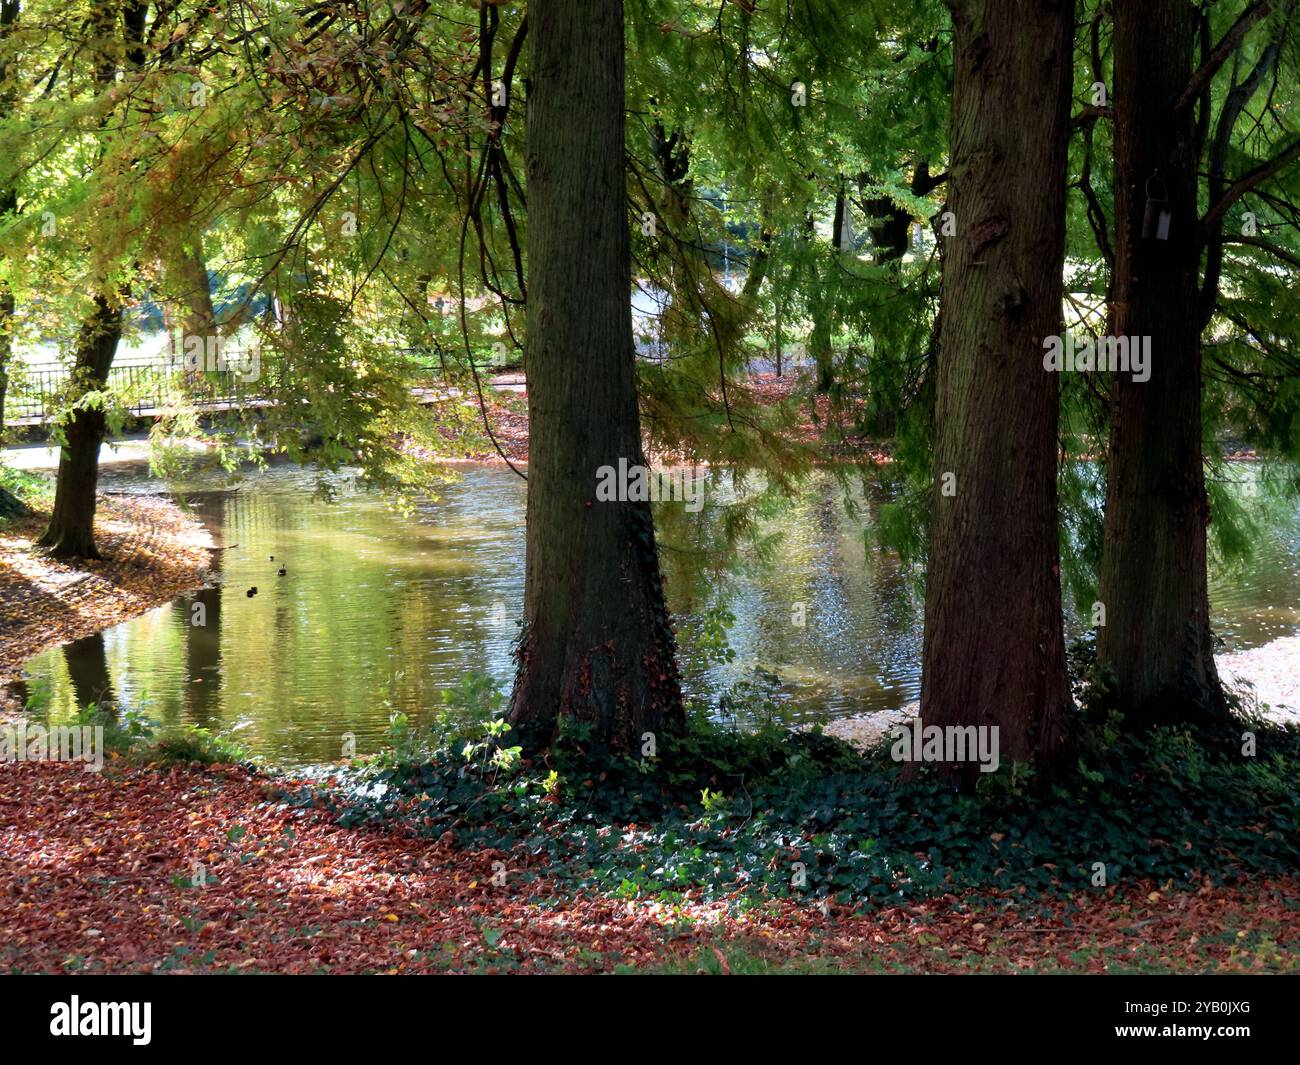
[(0, 971), (1300, 970), (1294, 876), (858, 914), (615, 900), (278, 791), (231, 767), (0, 765)]

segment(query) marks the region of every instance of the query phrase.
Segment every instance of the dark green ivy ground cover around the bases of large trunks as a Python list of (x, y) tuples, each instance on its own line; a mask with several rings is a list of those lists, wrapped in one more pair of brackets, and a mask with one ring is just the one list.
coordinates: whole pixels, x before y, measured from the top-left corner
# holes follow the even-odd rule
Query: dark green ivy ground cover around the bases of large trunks
[[(1087, 726), (1074, 772), (1040, 782), (1004, 767), (966, 796), (926, 770), (904, 779), (888, 743), (863, 758), (812, 733), (731, 732), (697, 715), (685, 735), (660, 737), (654, 758), (603, 758), (575, 730), (545, 765), (523, 762), (510, 775), (442, 750), (389, 772), (382, 795), (328, 801), (344, 824), (398, 819), (426, 835), (451, 830), (465, 847), (549, 853), (552, 874), (627, 897), (690, 889), (870, 905), (1069, 895), (1100, 889), (1096, 863), (1112, 887), (1294, 869), (1300, 730), (1266, 727), (1257, 740), (1249, 758), (1232, 737), (1161, 730), (1132, 739)], [(506, 737), (490, 741), (499, 748)]]

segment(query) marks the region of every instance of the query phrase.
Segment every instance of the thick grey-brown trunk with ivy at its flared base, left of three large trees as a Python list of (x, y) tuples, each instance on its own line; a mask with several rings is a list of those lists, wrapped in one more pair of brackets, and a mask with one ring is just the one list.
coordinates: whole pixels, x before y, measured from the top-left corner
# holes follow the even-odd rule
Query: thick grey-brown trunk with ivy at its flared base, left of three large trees
[(595, 498), (644, 464), (624, 191), (621, 0), (528, 9), (529, 468), (524, 632), (511, 722), (608, 749), (682, 724), (646, 502)]

